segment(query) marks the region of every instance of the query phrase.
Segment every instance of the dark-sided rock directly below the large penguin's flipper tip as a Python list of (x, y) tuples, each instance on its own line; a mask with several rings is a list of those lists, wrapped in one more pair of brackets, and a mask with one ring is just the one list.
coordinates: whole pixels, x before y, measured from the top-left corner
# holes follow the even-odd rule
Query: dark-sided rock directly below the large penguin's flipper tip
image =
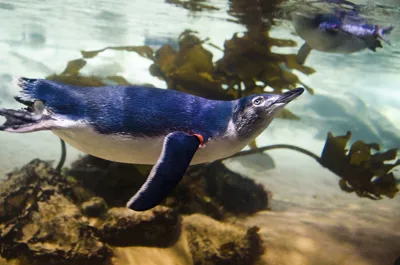
[(163, 206), (145, 212), (112, 208), (98, 227), (110, 245), (167, 247), (180, 236), (180, 217)]

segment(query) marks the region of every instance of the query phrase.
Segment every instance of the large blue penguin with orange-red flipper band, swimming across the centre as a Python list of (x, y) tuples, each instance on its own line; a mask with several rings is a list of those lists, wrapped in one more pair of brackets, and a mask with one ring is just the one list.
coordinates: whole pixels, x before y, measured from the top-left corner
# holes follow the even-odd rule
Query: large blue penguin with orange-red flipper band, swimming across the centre
[(15, 99), (24, 109), (0, 109), (0, 131), (51, 130), (82, 152), (106, 160), (154, 165), (129, 200), (136, 211), (159, 204), (189, 165), (239, 152), (287, 103), (303, 93), (209, 100), (170, 89), (140, 86), (74, 87), (19, 78)]

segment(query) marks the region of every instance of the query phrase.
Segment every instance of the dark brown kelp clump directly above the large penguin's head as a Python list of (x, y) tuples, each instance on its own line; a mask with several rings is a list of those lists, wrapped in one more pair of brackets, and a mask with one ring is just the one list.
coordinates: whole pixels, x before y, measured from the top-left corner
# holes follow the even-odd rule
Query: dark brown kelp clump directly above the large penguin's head
[[(228, 81), (245, 84), (243, 95), (258, 93), (257, 82), (282, 93), (283, 89), (293, 89), (301, 84), (298, 77), (289, 71), (297, 69), (312, 74), (314, 69), (297, 64), (295, 55), (275, 54), (271, 47), (278, 41), (270, 39), (265, 32), (246, 33), (243, 37), (234, 34), (225, 42), (224, 56), (216, 62), (216, 74)], [(292, 45), (282, 41), (279, 45)], [(313, 92), (311, 88), (306, 87)]]

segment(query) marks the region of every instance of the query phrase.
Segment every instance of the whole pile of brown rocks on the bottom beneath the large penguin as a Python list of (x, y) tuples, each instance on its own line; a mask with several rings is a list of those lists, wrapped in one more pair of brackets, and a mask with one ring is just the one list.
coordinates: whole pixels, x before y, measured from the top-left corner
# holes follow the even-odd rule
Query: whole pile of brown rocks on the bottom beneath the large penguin
[(63, 174), (41, 160), (8, 174), (0, 185), (0, 263), (258, 262), (258, 228), (223, 220), (266, 209), (262, 186), (217, 162), (190, 168), (163, 205), (123, 207), (148, 170), (87, 156)]

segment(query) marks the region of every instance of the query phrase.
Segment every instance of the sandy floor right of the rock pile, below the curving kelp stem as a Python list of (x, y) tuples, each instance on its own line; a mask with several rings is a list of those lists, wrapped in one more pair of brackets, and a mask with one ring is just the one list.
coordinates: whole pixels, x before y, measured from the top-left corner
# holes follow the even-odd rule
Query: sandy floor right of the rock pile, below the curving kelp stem
[[(270, 151), (227, 165), (273, 191), (272, 211), (246, 219), (265, 240), (265, 264), (391, 265), (400, 257), (400, 198), (380, 201), (344, 193), (339, 178), (312, 159)], [(290, 155), (290, 159), (288, 159)]]

